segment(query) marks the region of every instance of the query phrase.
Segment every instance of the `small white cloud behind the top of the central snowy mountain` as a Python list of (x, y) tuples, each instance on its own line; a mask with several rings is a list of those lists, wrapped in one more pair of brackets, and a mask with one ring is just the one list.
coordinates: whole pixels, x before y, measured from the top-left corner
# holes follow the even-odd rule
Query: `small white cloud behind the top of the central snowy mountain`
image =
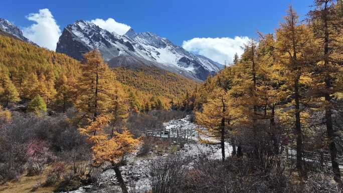
[(95, 19), (91, 22), (104, 30), (115, 32), (119, 35), (124, 35), (131, 28), (126, 24), (116, 22), (113, 18), (108, 18), (106, 21), (103, 19)]

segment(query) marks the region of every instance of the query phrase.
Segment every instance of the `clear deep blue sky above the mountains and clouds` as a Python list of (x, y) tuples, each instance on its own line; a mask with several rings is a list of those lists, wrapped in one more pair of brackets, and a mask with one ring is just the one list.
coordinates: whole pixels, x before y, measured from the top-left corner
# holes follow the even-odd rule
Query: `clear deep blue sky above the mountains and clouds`
[[(291, 3), (304, 16), (312, 0), (2, 0), (0, 17), (14, 22), (22, 29), (35, 22), (26, 16), (49, 9), (61, 30), (76, 20), (113, 18), (132, 27), (136, 32), (152, 32), (182, 46), (194, 38), (256, 37), (273, 32)], [(193, 51), (198, 51), (197, 48)]]

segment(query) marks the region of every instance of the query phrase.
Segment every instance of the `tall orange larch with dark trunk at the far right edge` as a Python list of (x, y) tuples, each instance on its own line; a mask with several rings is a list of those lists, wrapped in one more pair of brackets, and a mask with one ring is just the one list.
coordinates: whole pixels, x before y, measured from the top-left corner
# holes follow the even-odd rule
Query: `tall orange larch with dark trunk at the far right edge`
[(337, 162), (337, 147), (334, 141), (333, 114), (337, 108), (335, 95), (343, 91), (341, 66), (343, 61), (343, 18), (335, 1), (316, 0), (313, 10), (308, 14), (310, 29), (314, 33), (315, 51), (313, 52), (313, 67), (311, 77), (311, 94), (315, 98), (313, 104), (319, 111), (324, 111), (327, 131), (328, 149), (331, 154), (334, 180), (342, 184), (339, 164)]

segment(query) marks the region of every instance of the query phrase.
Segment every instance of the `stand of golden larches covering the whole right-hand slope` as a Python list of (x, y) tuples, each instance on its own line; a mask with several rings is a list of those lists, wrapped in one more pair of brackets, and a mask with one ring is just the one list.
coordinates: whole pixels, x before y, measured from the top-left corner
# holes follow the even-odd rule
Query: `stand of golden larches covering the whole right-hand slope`
[[(339, 9), (334, 1), (314, 1), (305, 23), (290, 6), (275, 33), (258, 33), (259, 39), (250, 40), (232, 66), (189, 95), (185, 101), (196, 104), (192, 109), (197, 111), (197, 123), (208, 128), (204, 135), (230, 142), (234, 154), (237, 147), (238, 156), (243, 150), (264, 165), (285, 146), (292, 147), (302, 179), (305, 149), (328, 150), (334, 179), (340, 184), (340, 126), (335, 124), (343, 91)], [(313, 147), (316, 137), (322, 144)]]

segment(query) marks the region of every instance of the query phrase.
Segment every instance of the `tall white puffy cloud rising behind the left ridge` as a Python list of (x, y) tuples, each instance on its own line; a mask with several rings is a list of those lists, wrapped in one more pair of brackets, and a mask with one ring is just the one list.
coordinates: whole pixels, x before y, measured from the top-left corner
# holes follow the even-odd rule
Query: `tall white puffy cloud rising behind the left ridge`
[(56, 50), (61, 30), (49, 9), (39, 10), (39, 13), (29, 14), (26, 18), (35, 24), (23, 29), (24, 36), (41, 47)]

